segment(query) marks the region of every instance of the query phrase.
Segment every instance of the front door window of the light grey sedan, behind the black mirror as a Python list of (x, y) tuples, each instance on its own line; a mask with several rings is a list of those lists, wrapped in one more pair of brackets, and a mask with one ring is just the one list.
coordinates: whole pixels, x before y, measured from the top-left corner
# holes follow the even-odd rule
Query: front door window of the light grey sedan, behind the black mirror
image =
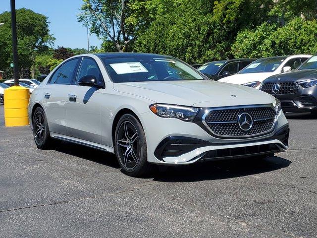
[(77, 76), (76, 83), (78, 82), (78, 80), (80, 78), (82, 78), (83, 76), (86, 76), (86, 75), (94, 75), (97, 79), (97, 83), (103, 82), (102, 74), (100, 72), (100, 69), (99, 69), (96, 61), (93, 59), (90, 59), (90, 58), (84, 58), (81, 61), (81, 64), (80, 64), (79, 70), (78, 70), (78, 76)]

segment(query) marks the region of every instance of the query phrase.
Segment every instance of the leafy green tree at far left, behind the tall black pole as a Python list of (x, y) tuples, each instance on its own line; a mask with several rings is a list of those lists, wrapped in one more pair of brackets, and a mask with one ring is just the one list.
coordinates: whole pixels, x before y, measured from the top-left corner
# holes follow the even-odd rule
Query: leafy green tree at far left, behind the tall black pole
[[(7, 68), (12, 62), (11, 15), (5, 11), (0, 14), (0, 67)], [(53, 44), (54, 38), (50, 35), (48, 18), (42, 14), (26, 8), (16, 10), (17, 41), (19, 56), (20, 77), (24, 71), (32, 67), (32, 76), (35, 74), (35, 58)]]

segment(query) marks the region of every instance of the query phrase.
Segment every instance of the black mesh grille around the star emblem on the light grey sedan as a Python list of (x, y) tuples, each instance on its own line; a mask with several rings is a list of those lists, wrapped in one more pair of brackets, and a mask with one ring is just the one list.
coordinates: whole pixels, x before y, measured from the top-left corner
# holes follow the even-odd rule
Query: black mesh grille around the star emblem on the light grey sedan
[[(248, 131), (239, 126), (238, 118), (242, 113), (248, 113), (253, 119), (253, 125)], [(205, 125), (219, 137), (250, 137), (271, 131), (275, 116), (275, 110), (269, 106), (215, 109), (207, 113)]]

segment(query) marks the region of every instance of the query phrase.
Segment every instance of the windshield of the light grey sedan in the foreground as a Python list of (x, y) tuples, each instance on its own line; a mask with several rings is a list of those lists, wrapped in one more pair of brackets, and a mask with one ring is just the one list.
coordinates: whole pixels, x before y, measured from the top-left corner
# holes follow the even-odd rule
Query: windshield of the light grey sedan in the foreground
[(111, 56), (103, 57), (102, 60), (115, 83), (205, 80), (196, 70), (166, 56)]

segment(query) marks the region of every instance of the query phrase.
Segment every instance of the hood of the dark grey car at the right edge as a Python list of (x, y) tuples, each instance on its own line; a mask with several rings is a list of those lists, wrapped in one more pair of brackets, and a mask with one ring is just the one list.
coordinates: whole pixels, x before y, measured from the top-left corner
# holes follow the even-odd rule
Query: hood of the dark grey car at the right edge
[(317, 78), (317, 69), (295, 70), (292, 72), (281, 73), (265, 79), (265, 83), (269, 82), (301, 82), (309, 79)]

